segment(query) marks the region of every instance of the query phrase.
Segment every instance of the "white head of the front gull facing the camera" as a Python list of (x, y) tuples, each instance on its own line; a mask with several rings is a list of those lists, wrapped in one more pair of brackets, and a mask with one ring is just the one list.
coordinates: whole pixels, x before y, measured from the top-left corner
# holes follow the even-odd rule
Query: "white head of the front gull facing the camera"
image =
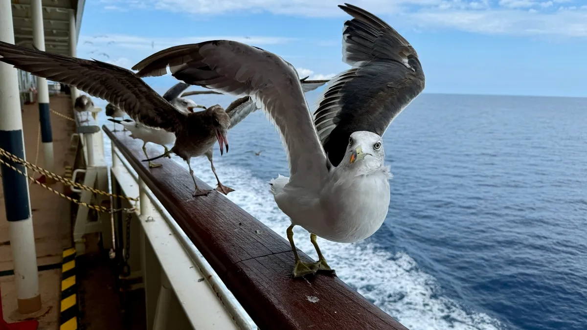
[(382, 137), (372, 132), (359, 131), (350, 134), (349, 145), (340, 164), (356, 169), (374, 170), (382, 167), (384, 160)]

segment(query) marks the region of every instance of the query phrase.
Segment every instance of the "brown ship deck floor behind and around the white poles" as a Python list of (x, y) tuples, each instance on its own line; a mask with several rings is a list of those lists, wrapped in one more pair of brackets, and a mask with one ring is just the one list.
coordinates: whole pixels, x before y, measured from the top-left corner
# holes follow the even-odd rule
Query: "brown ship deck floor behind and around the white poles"
[[(51, 96), (51, 109), (72, 117), (69, 95)], [(25, 105), (23, 107), (22, 122), (25, 136), (26, 160), (35, 162), (44, 167), (42, 142), (38, 141), (39, 105)], [(55, 172), (62, 175), (65, 166), (73, 166), (75, 151), (70, 150), (70, 136), (75, 132), (75, 123), (62, 117), (52, 115), (51, 125), (53, 132), (53, 149), (55, 154)], [(38, 178), (40, 174), (29, 170), (29, 175)], [(0, 178), (1, 180), (1, 178)], [(53, 184), (52, 188), (63, 191), (61, 183)], [(31, 208), (37, 264), (50, 265), (61, 262), (63, 248), (71, 247), (71, 223), (69, 201), (45, 190), (37, 184), (30, 185)], [(4, 192), (0, 189), (0, 285), (2, 289), (2, 308), (8, 322), (19, 319), (36, 317), (39, 320), (39, 329), (58, 329), (59, 315), (59, 288), (60, 267), (53, 270), (39, 272), (39, 290), (41, 292), (42, 308), (33, 315), (19, 315), (16, 311), (16, 292), (14, 275), (4, 275), (2, 272), (13, 270), (12, 250), (8, 238), (8, 221), (6, 221)]]

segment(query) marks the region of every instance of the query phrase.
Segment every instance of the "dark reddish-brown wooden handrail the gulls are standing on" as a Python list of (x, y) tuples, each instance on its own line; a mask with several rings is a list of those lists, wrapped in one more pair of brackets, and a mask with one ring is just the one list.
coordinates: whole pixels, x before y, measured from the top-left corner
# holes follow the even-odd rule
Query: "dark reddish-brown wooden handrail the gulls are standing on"
[(294, 257), (285, 238), (217, 191), (193, 198), (187, 170), (166, 158), (149, 169), (141, 140), (102, 128), (260, 329), (407, 329), (338, 277), (291, 278)]

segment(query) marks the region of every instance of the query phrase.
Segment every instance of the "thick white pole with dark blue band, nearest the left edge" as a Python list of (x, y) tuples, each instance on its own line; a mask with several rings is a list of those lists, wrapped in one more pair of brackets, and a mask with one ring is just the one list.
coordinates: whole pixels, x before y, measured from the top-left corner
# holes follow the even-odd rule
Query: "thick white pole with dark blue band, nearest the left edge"
[[(0, 40), (14, 44), (11, 1), (0, 1)], [(0, 63), (0, 147), (25, 159), (18, 76), (16, 69), (5, 63)], [(26, 173), (24, 166), (6, 158), (4, 160), (22, 173)], [(41, 295), (29, 185), (25, 176), (11, 168), (2, 165), (0, 170), (14, 260), (18, 311), (21, 314), (31, 314), (41, 309)]]

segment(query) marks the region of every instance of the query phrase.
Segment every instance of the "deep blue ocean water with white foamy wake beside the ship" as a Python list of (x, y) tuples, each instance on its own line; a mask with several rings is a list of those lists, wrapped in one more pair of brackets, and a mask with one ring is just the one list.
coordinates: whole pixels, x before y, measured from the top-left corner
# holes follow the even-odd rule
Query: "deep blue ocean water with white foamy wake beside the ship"
[[(278, 133), (258, 111), (228, 140), (230, 153), (214, 154), (228, 198), (285, 237), (267, 184), (289, 174)], [(587, 329), (586, 143), (587, 99), (421, 95), (384, 134), (385, 223), (360, 243), (319, 245), (343, 281), (412, 330)], [(207, 159), (192, 164), (215, 187)], [(317, 258), (308, 236), (296, 227)]]

